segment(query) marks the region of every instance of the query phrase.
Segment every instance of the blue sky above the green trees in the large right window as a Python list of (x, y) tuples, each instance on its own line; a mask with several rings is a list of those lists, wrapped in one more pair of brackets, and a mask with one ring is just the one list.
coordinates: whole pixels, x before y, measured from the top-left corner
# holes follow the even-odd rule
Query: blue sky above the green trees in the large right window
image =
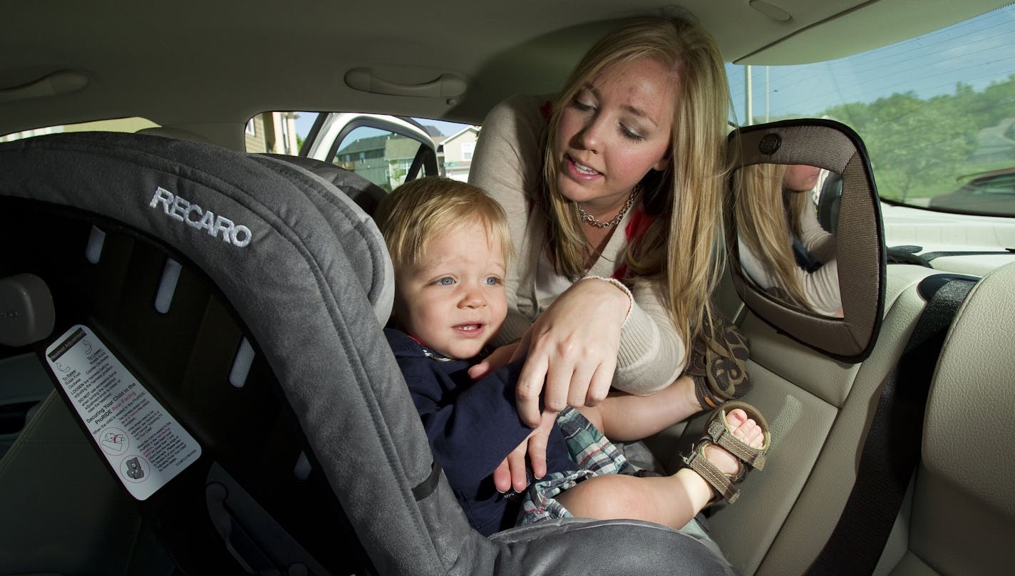
[[(1015, 74), (1015, 5), (863, 54), (801, 66), (753, 66), (753, 112), (815, 116), (838, 104), (873, 102), (913, 90), (922, 99), (950, 93), (962, 81), (982, 90)], [(744, 66), (727, 64), (737, 119), (746, 118)], [(1015, 111), (1013, 111), (1015, 114)]]

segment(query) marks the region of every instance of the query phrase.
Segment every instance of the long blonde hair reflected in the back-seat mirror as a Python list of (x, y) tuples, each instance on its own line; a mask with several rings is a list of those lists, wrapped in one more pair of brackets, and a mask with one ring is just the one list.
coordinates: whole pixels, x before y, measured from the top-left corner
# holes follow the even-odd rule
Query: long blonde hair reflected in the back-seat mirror
[(737, 171), (734, 212), (737, 233), (740, 242), (767, 265), (776, 287), (785, 293), (780, 296), (811, 310), (797, 272), (800, 266), (793, 253), (793, 236), (801, 234), (800, 214), (810, 199), (806, 193), (785, 188), (787, 168), (779, 164), (757, 164)]

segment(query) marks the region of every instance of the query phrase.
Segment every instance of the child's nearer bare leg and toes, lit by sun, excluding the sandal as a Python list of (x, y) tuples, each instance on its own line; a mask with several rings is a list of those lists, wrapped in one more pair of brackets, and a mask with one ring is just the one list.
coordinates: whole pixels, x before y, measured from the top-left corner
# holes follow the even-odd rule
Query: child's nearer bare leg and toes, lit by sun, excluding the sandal
[[(588, 418), (588, 417), (587, 417)], [(741, 409), (726, 417), (733, 434), (760, 448), (761, 429)], [(705, 448), (708, 460), (726, 473), (736, 473), (737, 459), (723, 448)], [(557, 500), (577, 517), (608, 520), (647, 520), (678, 529), (694, 517), (715, 496), (712, 487), (690, 468), (672, 476), (637, 477), (605, 474), (591, 477), (557, 495)]]

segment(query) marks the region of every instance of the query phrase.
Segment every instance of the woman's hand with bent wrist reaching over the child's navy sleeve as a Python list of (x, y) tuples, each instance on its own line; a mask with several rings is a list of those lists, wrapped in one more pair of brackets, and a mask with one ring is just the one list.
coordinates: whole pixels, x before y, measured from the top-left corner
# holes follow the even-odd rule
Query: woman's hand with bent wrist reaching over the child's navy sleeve
[(540, 396), (553, 412), (606, 397), (630, 306), (630, 297), (611, 282), (586, 278), (539, 315), (513, 356), (528, 355), (515, 392), (526, 424), (539, 425)]

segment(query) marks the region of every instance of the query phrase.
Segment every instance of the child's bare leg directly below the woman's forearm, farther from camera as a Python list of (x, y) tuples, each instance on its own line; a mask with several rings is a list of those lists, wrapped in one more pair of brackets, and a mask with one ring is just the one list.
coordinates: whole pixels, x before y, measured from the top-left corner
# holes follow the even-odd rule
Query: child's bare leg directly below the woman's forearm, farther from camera
[(578, 408), (603, 436), (616, 442), (640, 440), (683, 422), (701, 410), (688, 376), (651, 396), (616, 394), (596, 406)]

